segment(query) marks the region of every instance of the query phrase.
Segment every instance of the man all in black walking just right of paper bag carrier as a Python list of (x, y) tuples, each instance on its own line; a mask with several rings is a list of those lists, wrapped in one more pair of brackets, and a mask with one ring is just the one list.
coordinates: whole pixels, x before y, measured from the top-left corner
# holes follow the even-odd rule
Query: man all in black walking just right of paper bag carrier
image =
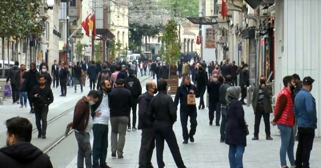
[(203, 69), (203, 64), (199, 64), (199, 70), (195, 74), (196, 87), (200, 93), (200, 98), (201, 98), (200, 104), (199, 104), (199, 110), (201, 108), (205, 109), (204, 94), (205, 94), (205, 90), (206, 90), (206, 86), (208, 84), (208, 81), (209, 81), (209, 78), (207, 76), (207, 72), (205, 71), (205, 69)]

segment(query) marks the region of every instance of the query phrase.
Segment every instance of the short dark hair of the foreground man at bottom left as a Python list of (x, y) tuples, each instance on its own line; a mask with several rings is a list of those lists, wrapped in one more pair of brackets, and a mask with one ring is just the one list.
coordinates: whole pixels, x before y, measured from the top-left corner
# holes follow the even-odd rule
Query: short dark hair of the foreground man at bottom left
[(32, 124), (23, 117), (13, 117), (6, 121), (9, 135), (14, 134), (17, 141), (31, 142)]

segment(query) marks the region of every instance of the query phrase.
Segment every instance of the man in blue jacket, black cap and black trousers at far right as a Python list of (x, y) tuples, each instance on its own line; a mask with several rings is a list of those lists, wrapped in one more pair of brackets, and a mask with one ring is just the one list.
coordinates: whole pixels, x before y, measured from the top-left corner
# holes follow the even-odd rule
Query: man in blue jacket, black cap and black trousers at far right
[(316, 129), (315, 99), (310, 94), (314, 79), (310, 76), (303, 78), (302, 89), (294, 100), (294, 114), (298, 130), (298, 144), (295, 165), (297, 168), (309, 167), (310, 152), (313, 146), (314, 130)]

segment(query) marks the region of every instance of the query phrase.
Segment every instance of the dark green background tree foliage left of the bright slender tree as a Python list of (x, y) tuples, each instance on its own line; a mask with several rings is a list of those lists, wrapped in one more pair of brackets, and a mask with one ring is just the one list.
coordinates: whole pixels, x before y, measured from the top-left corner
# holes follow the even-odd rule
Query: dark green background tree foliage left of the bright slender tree
[(138, 24), (129, 24), (129, 50), (132, 50), (134, 53), (140, 52), (140, 47), (142, 44), (142, 37), (149, 36), (155, 37), (159, 33), (160, 26), (148, 26), (143, 25), (139, 26)]

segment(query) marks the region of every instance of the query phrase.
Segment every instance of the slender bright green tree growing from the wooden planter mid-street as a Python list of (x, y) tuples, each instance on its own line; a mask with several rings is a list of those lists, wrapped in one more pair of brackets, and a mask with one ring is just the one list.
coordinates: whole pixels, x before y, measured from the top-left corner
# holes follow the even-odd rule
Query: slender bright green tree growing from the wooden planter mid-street
[(162, 36), (162, 40), (165, 43), (165, 52), (163, 54), (163, 60), (170, 65), (174, 65), (179, 60), (180, 47), (178, 41), (177, 24), (174, 20), (170, 20), (166, 25), (165, 33)]

